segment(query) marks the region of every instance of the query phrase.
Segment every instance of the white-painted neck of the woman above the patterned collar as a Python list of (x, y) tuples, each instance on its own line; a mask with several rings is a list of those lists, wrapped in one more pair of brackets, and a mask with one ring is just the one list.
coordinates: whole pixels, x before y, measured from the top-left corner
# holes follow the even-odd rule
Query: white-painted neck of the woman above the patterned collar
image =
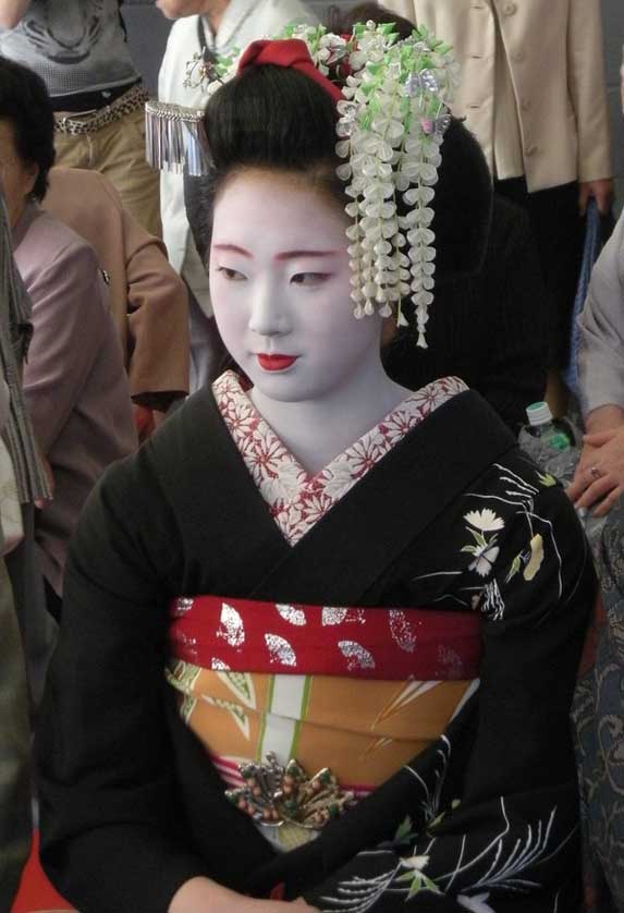
[(282, 402), (268, 399), (257, 388), (250, 398), (306, 472), (316, 475), (409, 393), (390, 380), (377, 361), (322, 399)]

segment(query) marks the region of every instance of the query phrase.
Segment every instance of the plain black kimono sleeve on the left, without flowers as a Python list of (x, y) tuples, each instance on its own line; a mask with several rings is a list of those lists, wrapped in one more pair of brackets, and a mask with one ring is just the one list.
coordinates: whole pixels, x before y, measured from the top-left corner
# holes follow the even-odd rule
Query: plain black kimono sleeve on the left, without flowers
[(36, 737), (41, 861), (91, 913), (167, 911), (204, 872), (175, 830), (162, 702), (179, 536), (148, 453), (109, 470), (81, 519)]

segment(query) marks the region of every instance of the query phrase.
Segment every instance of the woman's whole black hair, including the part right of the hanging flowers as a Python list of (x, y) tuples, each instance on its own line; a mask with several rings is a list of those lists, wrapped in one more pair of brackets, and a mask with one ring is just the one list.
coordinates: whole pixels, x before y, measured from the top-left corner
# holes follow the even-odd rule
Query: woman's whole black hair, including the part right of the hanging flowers
[[(342, 161), (335, 153), (337, 121), (331, 95), (290, 68), (249, 66), (215, 93), (204, 118), (212, 168), (206, 176), (185, 175), (186, 214), (205, 264), (215, 198), (229, 176), (247, 168), (301, 173), (308, 186), (345, 205), (345, 185), (335, 173)], [(431, 223), (437, 284), (480, 269), (492, 206), (485, 156), (456, 118), (451, 120), (440, 151)], [(401, 195), (397, 207), (405, 211)]]

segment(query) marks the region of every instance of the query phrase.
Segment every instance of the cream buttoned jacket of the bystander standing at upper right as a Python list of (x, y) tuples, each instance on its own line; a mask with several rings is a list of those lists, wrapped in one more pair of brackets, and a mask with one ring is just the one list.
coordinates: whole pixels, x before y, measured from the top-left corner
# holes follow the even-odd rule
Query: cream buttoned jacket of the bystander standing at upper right
[(453, 45), (465, 117), (492, 168), (495, 22), (512, 75), (529, 191), (613, 174), (600, 0), (383, 0)]

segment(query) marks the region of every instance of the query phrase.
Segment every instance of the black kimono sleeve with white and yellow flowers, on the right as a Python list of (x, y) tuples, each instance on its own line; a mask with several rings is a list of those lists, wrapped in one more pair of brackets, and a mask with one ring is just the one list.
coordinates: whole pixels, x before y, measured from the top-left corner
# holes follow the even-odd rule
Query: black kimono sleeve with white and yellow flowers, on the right
[(480, 685), (444, 735), (395, 775), (405, 803), (388, 814), (387, 840), (306, 892), (313, 905), (354, 913), (575, 909), (568, 716), (596, 580), (573, 508), (554, 479), (542, 479), (538, 492), (502, 472), (501, 502), (513, 486), (525, 497), (500, 516), (489, 507), (495, 498), (466, 515), (481, 525), (464, 576), (484, 581)]

